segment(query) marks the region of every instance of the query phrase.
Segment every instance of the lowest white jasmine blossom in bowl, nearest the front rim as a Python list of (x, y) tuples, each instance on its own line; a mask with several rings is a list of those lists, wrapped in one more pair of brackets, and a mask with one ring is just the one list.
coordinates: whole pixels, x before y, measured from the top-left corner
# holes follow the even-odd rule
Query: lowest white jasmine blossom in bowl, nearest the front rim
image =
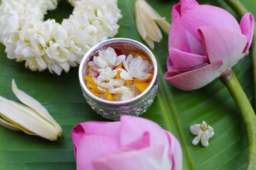
[(126, 86), (121, 86), (110, 91), (110, 93), (120, 93), (121, 101), (129, 100), (135, 97), (135, 91)]

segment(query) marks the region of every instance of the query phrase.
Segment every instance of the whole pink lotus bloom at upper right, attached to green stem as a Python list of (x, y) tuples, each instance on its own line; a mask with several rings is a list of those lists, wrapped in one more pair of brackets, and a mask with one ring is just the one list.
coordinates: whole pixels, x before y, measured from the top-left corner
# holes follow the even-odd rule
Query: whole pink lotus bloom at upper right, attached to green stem
[(183, 90), (207, 85), (248, 54), (253, 28), (251, 13), (243, 16), (239, 26), (224, 9), (181, 0), (172, 8), (164, 79)]

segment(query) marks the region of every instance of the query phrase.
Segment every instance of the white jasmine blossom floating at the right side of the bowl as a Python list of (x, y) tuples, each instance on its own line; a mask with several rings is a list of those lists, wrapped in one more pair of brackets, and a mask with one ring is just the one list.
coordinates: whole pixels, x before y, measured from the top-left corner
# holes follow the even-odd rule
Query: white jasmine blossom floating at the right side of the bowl
[(152, 71), (153, 66), (148, 60), (143, 60), (141, 56), (133, 58), (133, 55), (129, 54), (126, 60), (123, 60), (124, 69), (119, 69), (121, 71), (121, 78), (125, 80), (137, 79), (147, 79), (150, 76), (150, 71)]

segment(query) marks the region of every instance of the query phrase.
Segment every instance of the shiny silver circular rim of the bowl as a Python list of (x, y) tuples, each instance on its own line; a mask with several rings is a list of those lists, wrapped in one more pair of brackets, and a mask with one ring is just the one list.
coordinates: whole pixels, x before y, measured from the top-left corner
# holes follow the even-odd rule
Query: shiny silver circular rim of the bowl
[[(100, 46), (104, 46), (106, 44), (111, 44), (113, 42), (124, 42), (124, 43), (126, 42), (126, 43), (133, 44), (135, 46), (139, 46), (139, 48), (141, 48), (142, 50), (144, 50), (146, 52), (146, 54), (148, 54), (148, 56), (150, 57), (150, 59), (152, 60), (152, 63), (153, 63), (154, 76), (153, 76), (153, 79), (150, 82), (150, 85), (148, 86), (148, 88), (145, 91), (143, 91), (143, 93), (137, 95), (136, 97), (133, 97), (132, 99), (125, 100), (125, 101), (108, 101), (106, 99), (101, 99), (100, 97), (97, 97), (96, 95), (91, 93), (89, 91), (89, 89), (86, 87), (86, 84), (84, 83), (83, 72), (84, 72), (84, 68), (86, 67), (86, 64), (87, 64), (86, 62), (88, 60), (88, 57), (90, 57), (91, 54), (96, 49), (100, 48)], [(100, 50), (100, 49), (98, 49), (98, 50)], [(154, 54), (152, 53), (152, 51), (147, 46), (142, 44), (141, 42), (138, 42), (136, 40), (132, 40), (132, 39), (129, 39), (129, 38), (111, 38), (111, 39), (104, 40), (104, 41), (94, 45), (92, 48), (90, 48), (90, 50), (88, 50), (88, 52), (86, 52), (86, 54), (82, 58), (82, 61), (81, 61), (80, 65), (79, 65), (78, 74), (79, 74), (79, 83), (80, 83), (82, 89), (84, 90), (84, 92), (87, 95), (89, 95), (90, 97), (92, 97), (96, 101), (100, 101), (101, 103), (110, 104), (110, 105), (123, 105), (123, 104), (127, 104), (127, 103), (131, 103), (133, 101), (136, 101), (137, 99), (139, 99), (143, 95), (146, 95), (146, 93), (148, 93), (150, 91), (150, 89), (152, 89), (152, 87), (154, 86), (154, 83), (157, 81), (158, 65), (157, 65), (156, 58), (155, 58)]]

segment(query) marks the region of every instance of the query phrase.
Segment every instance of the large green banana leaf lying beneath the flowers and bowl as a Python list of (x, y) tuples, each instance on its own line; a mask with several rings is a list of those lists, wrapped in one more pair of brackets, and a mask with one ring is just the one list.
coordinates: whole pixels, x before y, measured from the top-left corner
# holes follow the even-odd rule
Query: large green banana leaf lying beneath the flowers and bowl
[[(123, 18), (119, 22), (121, 27), (117, 37), (143, 42), (135, 27), (134, 1), (119, 0)], [(256, 1), (242, 1), (256, 14)], [(178, 1), (148, 2), (170, 22), (172, 5)], [(224, 7), (235, 15), (222, 0), (203, 0), (199, 3)], [(71, 11), (69, 3), (60, 1), (58, 9), (49, 11), (46, 18), (55, 18), (61, 22), (63, 18), (69, 17)], [(226, 87), (218, 79), (196, 91), (181, 91), (166, 83), (163, 75), (168, 56), (168, 35), (163, 34), (162, 42), (156, 44), (153, 50), (159, 65), (160, 89), (154, 104), (142, 117), (153, 120), (177, 136), (183, 148), (183, 169), (245, 169), (248, 157), (247, 131)], [(239, 62), (234, 71), (252, 101), (250, 57)], [(49, 110), (65, 134), (64, 140), (50, 142), (0, 127), (0, 169), (75, 169), (71, 128), (79, 122), (107, 121), (93, 112), (86, 103), (79, 87), (77, 72), (78, 69), (73, 68), (60, 77), (48, 71), (32, 72), (24, 67), (24, 62), (7, 59), (5, 47), (0, 45), (0, 95), (17, 100), (11, 92), (11, 79), (14, 78), (20, 89), (38, 99)], [(191, 124), (203, 120), (214, 127), (216, 132), (207, 148), (200, 144), (193, 146), (191, 140), (195, 136), (189, 132)]]

